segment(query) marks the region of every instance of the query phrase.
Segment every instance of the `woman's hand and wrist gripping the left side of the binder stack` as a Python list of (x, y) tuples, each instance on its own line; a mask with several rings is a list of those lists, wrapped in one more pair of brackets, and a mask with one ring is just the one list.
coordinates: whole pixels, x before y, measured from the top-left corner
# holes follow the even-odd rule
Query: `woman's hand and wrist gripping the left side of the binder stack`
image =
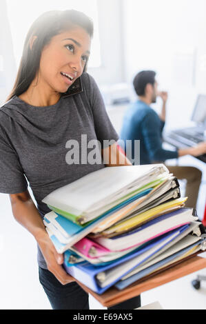
[(61, 266), (63, 264), (63, 254), (56, 252), (56, 249), (47, 232), (41, 232), (36, 239), (39, 247), (41, 248), (45, 262), (47, 263), (48, 270), (52, 272), (54, 276), (56, 276), (56, 279), (58, 279), (62, 285), (75, 281), (72, 276), (63, 270), (63, 267)]

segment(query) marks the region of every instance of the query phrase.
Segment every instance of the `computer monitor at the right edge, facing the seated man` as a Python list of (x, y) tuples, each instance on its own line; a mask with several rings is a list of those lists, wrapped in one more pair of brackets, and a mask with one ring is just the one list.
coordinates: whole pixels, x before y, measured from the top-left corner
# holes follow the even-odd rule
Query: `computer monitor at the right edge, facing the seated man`
[(206, 128), (206, 94), (198, 94), (196, 105), (192, 114), (192, 121)]

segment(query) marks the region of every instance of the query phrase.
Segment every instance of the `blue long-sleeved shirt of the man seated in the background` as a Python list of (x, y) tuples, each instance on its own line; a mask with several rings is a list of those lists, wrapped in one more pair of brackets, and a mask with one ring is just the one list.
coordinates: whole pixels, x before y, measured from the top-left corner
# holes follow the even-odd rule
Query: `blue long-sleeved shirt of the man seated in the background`
[(177, 151), (162, 148), (164, 125), (158, 114), (143, 101), (138, 100), (130, 105), (123, 118), (120, 139), (125, 143), (126, 140), (132, 140), (132, 159), (134, 140), (140, 140), (140, 164), (163, 162), (178, 157)]

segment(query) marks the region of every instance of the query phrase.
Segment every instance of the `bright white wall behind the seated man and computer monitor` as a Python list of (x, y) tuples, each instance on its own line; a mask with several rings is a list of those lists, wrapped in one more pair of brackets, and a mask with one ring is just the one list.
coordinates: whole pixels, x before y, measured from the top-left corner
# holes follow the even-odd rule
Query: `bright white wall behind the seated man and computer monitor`
[(206, 92), (206, 1), (123, 0), (125, 75), (158, 72), (169, 92), (169, 128), (189, 121), (198, 92)]

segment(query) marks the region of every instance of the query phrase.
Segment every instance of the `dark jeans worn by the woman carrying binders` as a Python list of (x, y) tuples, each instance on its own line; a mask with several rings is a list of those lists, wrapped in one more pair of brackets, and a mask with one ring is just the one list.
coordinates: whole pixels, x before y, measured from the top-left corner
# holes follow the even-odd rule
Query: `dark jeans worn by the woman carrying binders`
[[(89, 296), (76, 283), (62, 285), (49, 270), (39, 267), (39, 281), (47, 294), (53, 310), (89, 310)], [(141, 296), (136, 296), (108, 307), (108, 310), (134, 310), (141, 306)]]

